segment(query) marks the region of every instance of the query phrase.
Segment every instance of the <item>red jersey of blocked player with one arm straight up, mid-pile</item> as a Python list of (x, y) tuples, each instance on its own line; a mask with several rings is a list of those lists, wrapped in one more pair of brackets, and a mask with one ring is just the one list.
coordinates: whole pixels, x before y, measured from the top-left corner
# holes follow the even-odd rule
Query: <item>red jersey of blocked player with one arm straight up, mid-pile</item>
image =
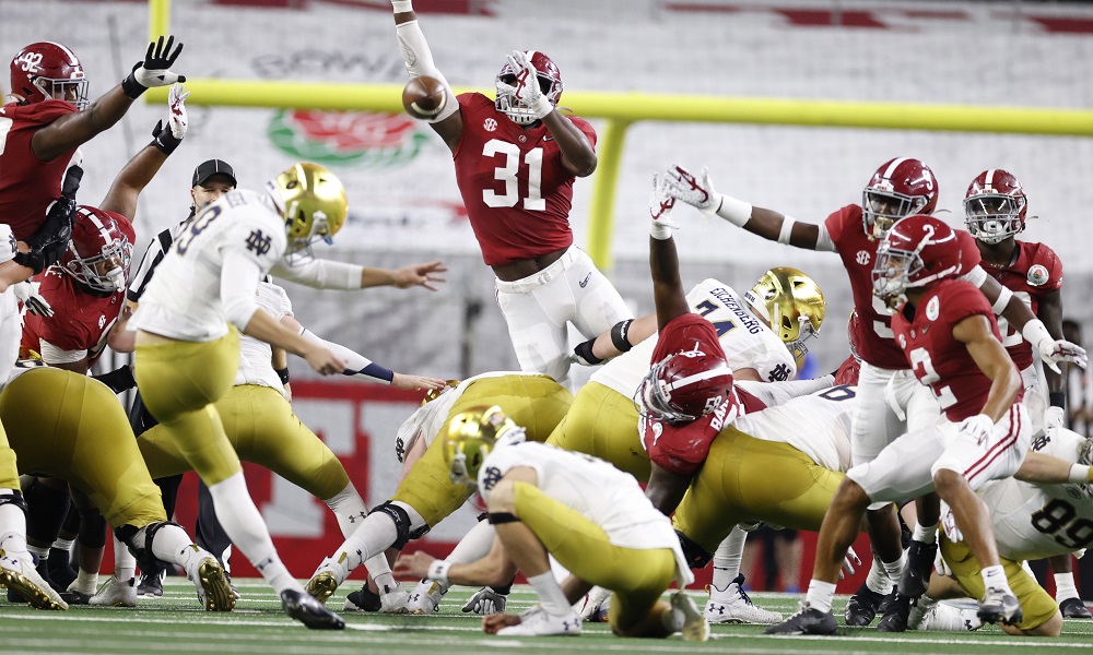
[[(668, 322), (660, 331), (653, 364), (682, 350), (702, 350), (725, 357), (714, 325), (698, 314), (685, 313)], [(638, 430), (649, 453), (649, 461), (677, 475), (691, 475), (702, 466), (709, 446), (721, 429), (736, 420), (743, 405), (733, 395), (714, 412), (682, 426), (673, 426), (643, 414)], [(757, 401), (757, 398), (755, 398)]]

